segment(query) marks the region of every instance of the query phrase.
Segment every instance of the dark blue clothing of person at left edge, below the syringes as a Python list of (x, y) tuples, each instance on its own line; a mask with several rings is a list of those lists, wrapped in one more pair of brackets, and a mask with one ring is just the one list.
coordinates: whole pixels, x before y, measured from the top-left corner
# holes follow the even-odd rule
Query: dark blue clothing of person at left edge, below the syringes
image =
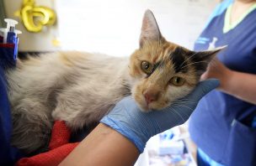
[(22, 157), (17, 148), (10, 145), (12, 119), (7, 94), (7, 82), (4, 70), (15, 65), (13, 48), (0, 46), (0, 165), (13, 165)]

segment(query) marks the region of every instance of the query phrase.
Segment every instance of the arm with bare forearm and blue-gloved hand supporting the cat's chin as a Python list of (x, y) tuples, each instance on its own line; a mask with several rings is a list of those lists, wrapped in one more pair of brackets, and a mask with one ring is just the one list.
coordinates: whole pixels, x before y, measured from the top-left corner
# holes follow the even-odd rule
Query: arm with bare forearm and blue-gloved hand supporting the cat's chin
[(141, 112), (131, 96), (125, 97), (60, 165), (133, 165), (150, 137), (186, 122), (200, 99), (216, 86), (218, 80), (202, 81), (180, 105), (161, 111)]

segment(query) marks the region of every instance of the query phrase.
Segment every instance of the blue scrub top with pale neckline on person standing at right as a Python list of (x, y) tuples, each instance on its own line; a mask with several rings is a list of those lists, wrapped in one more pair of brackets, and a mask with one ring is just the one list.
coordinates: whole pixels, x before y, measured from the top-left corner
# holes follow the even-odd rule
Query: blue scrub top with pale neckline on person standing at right
[[(228, 45), (217, 58), (231, 70), (256, 74), (256, 9), (223, 33), (224, 1), (195, 42), (195, 50)], [(255, 94), (256, 95), (256, 94)], [(197, 146), (224, 165), (256, 165), (256, 106), (221, 91), (211, 91), (190, 117), (189, 132)]]

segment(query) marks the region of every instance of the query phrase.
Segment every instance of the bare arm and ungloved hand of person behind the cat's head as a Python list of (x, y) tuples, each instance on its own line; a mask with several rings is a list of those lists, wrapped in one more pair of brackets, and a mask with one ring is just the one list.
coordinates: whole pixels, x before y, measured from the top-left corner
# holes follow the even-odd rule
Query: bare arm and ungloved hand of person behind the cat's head
[(220, 80), (220, 91), (256, 104), (256, 75), (229, 70), (219, 60), (214, 60), (202, 75), (202, 80), (209, 78)]

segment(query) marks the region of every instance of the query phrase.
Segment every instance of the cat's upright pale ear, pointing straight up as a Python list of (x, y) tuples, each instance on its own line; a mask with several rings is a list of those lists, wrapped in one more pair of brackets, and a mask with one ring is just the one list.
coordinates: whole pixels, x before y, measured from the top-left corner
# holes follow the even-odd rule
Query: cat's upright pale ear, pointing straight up
[(158, 28), (156, 18), (152, 11), (147, 9), (144, 13), (141, 27), (140, 47), (143, 47), (147, 42), (160, 41), (160, 39), (162, 39), (162, 35)]

